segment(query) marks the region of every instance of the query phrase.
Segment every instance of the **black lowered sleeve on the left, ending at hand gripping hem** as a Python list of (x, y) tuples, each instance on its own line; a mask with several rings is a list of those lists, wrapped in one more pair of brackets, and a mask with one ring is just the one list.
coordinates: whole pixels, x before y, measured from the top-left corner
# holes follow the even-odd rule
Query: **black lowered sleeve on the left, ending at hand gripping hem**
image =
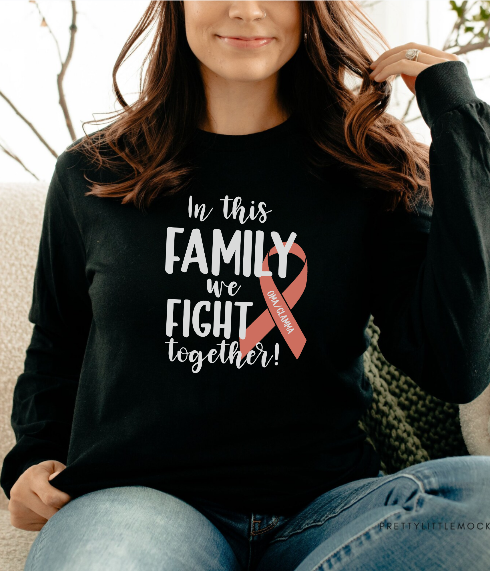
[(17, 443), (3, 460), (0, 485), (10, 489), (31, 465), (66, 464), (78, 379), (91, 324), (86, 251), (58, 158), (46, 195), (24, 370), (14, 387), (11, 426)]

